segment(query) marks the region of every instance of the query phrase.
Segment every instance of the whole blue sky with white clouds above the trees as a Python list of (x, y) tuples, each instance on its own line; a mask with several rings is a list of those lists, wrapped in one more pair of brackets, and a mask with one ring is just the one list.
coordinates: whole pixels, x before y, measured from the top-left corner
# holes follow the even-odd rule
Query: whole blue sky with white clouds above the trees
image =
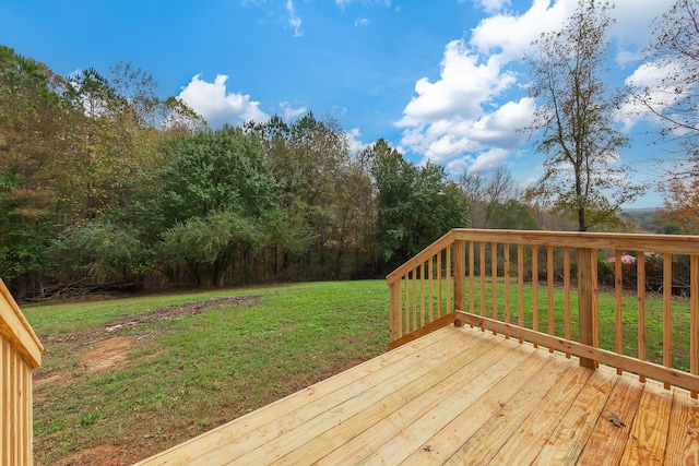
[[(617, 0), (611, 86), (644, 79), (651, 21), (672, 0)], [(520, 186), (543, 157), (516, 128), (534, 109), (521, 56), (577, 0), (2, 0), (0, 44), (67, 75), (119, 61), (151, 73), (212, 127), (334, 117), (353, 147), (387, 139), (457, 177), (507, 166)], [(620, 160), (655, 176), (653, 122), (619, 118)], [(654, 191), (632, 206), (656, 206)]]

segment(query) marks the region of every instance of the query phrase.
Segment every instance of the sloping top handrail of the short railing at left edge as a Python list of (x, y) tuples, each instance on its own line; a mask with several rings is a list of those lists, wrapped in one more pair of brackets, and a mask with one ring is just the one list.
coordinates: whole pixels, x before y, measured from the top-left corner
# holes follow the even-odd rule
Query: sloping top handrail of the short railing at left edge
[(32, 369), (42, 366), (44, 346), (0, 278), (0, 336), (7, 338)]

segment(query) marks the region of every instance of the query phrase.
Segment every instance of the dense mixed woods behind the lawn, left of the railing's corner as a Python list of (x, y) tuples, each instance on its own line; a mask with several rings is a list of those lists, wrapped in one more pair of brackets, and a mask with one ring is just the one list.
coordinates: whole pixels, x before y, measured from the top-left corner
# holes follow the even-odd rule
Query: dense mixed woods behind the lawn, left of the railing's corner
[(0, 276), (25, 299), (92, 289), (376, 277), (469, 204), (445, 169), (339, 124), (210, 129), (152, 76), (69, 77), (0, 47)]

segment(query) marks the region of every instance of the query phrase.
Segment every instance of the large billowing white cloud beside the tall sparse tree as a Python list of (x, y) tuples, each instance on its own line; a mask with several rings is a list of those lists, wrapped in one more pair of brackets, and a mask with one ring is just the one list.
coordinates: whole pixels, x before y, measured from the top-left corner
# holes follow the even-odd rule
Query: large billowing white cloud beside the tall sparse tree
[[(517, 129), (531, 121), (535, 104), (522, 98), (526, 83), (517, 72), (521, 58), (533, 40), (560, 28), (578, 7), (578, 0), (532, 0), (526, 11), (516, 12), (508, 0), (471, 1), (489, 16), (469, 38), (447, 44), (439, 79), (416, 81), (415, 95), (395, 123), (403, 130), (401, 145), (407, 152), (454, 170), (505, 163), (525, 143)], [(611, 14), (619, 20), (609, 39), (619, 63), (638, 63), (639, 50), (650, 37), (648, 24), (671, 2), (639, 5), (636, 0), (617, 0)]]

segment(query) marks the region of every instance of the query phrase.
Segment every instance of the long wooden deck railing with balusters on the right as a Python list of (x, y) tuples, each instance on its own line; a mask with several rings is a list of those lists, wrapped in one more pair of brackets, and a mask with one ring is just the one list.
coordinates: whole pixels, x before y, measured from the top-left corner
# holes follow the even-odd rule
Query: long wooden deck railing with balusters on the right
[[(662, 277), (649, 289), (651, 259)], [(454, 229), (387, 280), (390, 348), (470, 324), (699, 393), (699, 237)]]

